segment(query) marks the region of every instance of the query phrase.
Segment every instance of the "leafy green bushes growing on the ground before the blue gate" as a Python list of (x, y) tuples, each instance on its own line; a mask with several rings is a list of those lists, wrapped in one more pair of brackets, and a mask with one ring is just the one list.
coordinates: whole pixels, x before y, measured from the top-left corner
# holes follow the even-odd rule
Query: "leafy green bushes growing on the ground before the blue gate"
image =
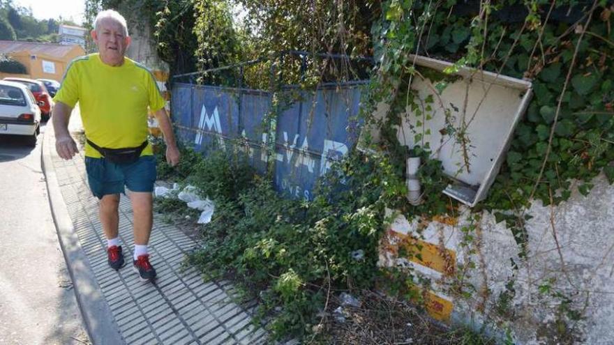
[[(304, 202), (279, 197), (267, 177), (254, 174), (244, 153), (218, 149), (204, 158), (190, 148), (181, 152), (187, 163), (177, 172), (186, 178), (167, 175), (162, 155), (158, 170), (197, 186), (216, 204), (211, 223), (201, 227), (203, 250), (189, 262), (208, 279), (230, 278), (246, 291), (246, 298), (259, 300), (256, 321), (262, 321), (272, 337), (356, 344), (383, 327), (371, 337), (389, 344), (405, 336), (402, 340), (413, 338), (417, 344), (491, 344), (469, 330), (434, 325), (403, 302), (379, 295), (375, 300), (368, 290), (360, 292), (388, 277), (376, 267), (377, 241), (392, 191), (389, 183), (403, 184), (394, 171), (380, 171), (381, 178), (364, 185), (366, 176), (379, 167), (364, 154), (352, 153), (322, 180), (315, 200)], [(347, 170), (358, 163), (361, 169)], [(178, 217), (190, 212), (173, 199), (157, 199), (156, 205), (158, 211)], [(339, 323), (334, 310), (342, 305), (339, 293), (348, 290), (360, 293), (366, 305), (347, 309), (347, 323)], [(362, 319), (377, 313), (407, 316), (397, 321), (407, 329), (396, 333), (377, 319)], [(365, 333), (354, 332), (357, 328)]]

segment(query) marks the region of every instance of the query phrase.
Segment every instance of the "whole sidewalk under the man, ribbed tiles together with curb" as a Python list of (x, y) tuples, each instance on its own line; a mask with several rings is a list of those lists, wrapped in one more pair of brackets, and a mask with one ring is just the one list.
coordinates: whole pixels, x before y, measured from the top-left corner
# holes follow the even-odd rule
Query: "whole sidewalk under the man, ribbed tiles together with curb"
[[(55, 221), (60, 224), (59, 237), (77, 300), (94, 344), (117, 344), (117, 339), (130, 345), (267, 342), (264, 330), (250, 322), (255, 305), (233, 302), (229, 282), (205, 283), (195, 268), (182, 270), (184, 255), (197, 243), (172, 224), (164, 224), (160, 215), (154, 215), (149, 242), (158, 280), (156, 284), (140, 282), (131, 267), (134, 242), (130, 199), (123, 195), (119, 236), (126, 266), (117, 272), (109, 268), (106, 240), (98, 220), (98, 199), (87, 186), (83, 159), (61, 160), (52, 137), (50, 128), (43, 146), (50, 200)], [(61, 198), (52, 196), (54, 189)], [(63, 208), (68, 212), (63, 213)]]

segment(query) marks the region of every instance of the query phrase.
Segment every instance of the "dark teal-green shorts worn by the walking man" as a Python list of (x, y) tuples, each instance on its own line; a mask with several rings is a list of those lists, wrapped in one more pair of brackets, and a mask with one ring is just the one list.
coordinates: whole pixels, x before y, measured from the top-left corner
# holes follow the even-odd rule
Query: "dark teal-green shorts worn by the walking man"
[(156, 182), (156, 158), (144, 155), (134, 163), (115, 164), (105, 158), (85, 158), (89, 189), (98, 199), (107, 194), (126, 194), (124, 186), (133, 192), (153, 192)]

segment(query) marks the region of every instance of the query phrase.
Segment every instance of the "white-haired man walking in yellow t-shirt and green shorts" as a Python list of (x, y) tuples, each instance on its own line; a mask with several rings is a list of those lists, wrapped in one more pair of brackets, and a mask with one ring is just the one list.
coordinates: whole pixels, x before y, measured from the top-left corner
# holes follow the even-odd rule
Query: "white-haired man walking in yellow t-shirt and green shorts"
[(155, 114), (167, 145), (166, 160), (174, 166), (179, 151), (164, 100), (151, 72), (125, 57), (130, 45), (126, 20), (114, 10), (98, 13), (91, 31), (98, 53), (73, 60), (54, 97), (56, 150), (70, 160), (77, 145), (68, 132), (68, 118), (77, 101), (87, 142), (85, 166), (91, 192), (100, 199), (100, 222), (107, 238), (108, 263), (123, 266), (119, 243), (119, 194), (130, 190), (134, 214), (135, 271), (153, 281), (147, 243), (152, 226), (156, 160), (147, 143), (147, 109)]

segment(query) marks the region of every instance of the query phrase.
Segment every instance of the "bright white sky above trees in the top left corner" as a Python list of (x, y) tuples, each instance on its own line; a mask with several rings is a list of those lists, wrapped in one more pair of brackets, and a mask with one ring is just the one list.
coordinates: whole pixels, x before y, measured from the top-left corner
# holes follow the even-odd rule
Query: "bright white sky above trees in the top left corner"
[(84, 20), (85, 3), (83, 0), (13, 0), (13, 3), (17, 6), (31, 8), (32, 14), (38, 20), (58, 19), (60, 16), (66, 20), (73, 17), (77, 24), (82, 24)]

